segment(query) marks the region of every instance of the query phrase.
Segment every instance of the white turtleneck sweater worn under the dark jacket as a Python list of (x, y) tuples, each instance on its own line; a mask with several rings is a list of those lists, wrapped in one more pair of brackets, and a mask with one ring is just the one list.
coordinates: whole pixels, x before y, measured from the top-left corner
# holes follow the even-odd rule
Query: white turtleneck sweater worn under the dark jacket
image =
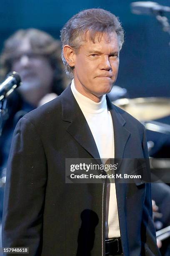
[[(75, 88), (74, 80), (71, 90), (90, 127), (101, 159), (115, 157), (114, 131), (110, 111), (107, 110), (106, 95), (100, 102), (94, 102), (82, 95)], [(120, 237), (119, 219), (115, 183), (107, 184), (106, 199), (106, 238)]]

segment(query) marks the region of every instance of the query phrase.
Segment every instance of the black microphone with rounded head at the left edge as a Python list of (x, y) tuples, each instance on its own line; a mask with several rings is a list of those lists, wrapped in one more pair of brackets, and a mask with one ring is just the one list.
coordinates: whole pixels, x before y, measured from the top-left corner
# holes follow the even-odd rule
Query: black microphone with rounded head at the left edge
[(17, 72), (7, 74), (7, 78), (0, 84), (0, 100), (10, 95), (21, 84), (20, 75)]

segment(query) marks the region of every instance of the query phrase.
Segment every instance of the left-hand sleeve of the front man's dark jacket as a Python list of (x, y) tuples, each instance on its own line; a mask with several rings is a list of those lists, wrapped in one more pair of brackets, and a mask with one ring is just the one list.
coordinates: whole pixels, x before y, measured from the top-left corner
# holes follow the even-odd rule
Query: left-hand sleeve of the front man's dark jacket
[(31, 256), (40, 255), (46, 166), (45, 151), (35, 126), (23, 117), (15, 128), (7, 164), (3, 247), (29, 247)]

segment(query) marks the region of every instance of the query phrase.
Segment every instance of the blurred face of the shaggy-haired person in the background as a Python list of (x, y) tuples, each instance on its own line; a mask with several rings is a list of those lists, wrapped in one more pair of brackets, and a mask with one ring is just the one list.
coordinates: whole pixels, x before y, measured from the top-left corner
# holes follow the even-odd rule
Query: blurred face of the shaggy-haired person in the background
[(20, 74), (23, 82), (18, 90), (21, 93), (49, 92), (54, 71), (47, 58), (34, 54), (27, 38), (21, 41), (15, 56), (11, 69)]

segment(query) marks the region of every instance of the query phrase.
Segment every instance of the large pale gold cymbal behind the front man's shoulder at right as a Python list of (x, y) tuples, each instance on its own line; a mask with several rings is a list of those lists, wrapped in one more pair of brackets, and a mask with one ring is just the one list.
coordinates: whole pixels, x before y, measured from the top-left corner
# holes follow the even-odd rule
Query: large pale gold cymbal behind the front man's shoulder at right
[(112, 102), (139, 121), (149, 121), (170, 115), (170, 98), (146, 97), (119, 99)]

